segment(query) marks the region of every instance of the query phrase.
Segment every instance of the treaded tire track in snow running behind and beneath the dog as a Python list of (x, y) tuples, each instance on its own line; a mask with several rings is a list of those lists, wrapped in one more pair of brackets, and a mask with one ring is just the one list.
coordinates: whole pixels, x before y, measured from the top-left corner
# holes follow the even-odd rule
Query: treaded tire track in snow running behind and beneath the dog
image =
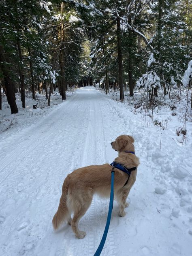
[[(100, 100), (100, 94), (94, 90), (90, 102), (90, 124), (87, 130), (82, 166), (87, 166), (90, 164), (103, 164), (107, 159)], [(85, 239), (88, 239), (88, 243), (86, 243), (84, 248), (85, 252), (87, 252), (85, 255), (87, 256), (93, 255), (100, 243), (107, 220), (106, 211), (108, 211), (108, 207), (109, 199), (102, 200), (102, 198), (94, 196), (90, 209), (83, 217), (86, 222), (88, 222), (86, 225), (87, 229), (85, 230), (87, 231), (87, 236)], [(105, 211), (103, 211), (103, 208)], [(100, 214), (100, 212), (102, 212), (102, 214)], [(113, 225), (111, 225), (109, 228), (107, 242), (102, 254), (111, 255), (112, 251), (115, 252), (115, 248), (114, 228)]]

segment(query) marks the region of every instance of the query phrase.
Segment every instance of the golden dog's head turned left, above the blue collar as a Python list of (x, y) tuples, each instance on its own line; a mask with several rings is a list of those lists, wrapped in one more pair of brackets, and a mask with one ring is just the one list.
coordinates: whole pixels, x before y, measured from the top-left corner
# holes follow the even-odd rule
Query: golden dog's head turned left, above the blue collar
[(111, 142), (111, 147), (118, 152), (126, 150), (134, 150), (134, 139), (129, 135), (120, 135), (117, 139)]

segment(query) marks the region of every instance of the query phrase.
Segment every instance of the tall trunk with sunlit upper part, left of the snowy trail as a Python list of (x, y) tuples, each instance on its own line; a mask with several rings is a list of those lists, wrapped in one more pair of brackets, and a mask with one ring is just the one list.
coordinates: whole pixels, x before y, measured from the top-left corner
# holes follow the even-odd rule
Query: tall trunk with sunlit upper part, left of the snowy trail
[(59, 48), (59, 62), (60, 62), (60, 72), (61, 72), (61, 95), (62, 100), (66, 100), (66, 86), (65, 86), (65, 73), (64, 73), (64, 30), (63, 30), (63, 22), (62, 22), (62, 14), (63, 14), (63, 2), (61, 3), (61, 20), (60, 20), (60, 48)]

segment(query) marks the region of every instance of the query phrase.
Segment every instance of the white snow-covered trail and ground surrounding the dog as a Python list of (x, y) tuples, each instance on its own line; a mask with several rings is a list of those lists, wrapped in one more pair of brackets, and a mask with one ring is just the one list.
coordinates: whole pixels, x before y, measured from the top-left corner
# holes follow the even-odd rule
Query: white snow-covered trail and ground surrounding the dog
[(120, 134), (134, 137), (141, 165), (124, 218), (114, 203), (101, 255), (191, 255), (192, 123), (180, 143), (177, 115), (161, 109), (154, 111), (155, 119), (164, 123), (155, 126), (126, 102), (83, 87), (46, 115), (34, 115), (30, 126), (23, 122), (2, 132), (0, 255), (94, 255), (109, 200), (94, 197), (79, 223), (87, 233), (84, 239), (76, 239), (68, 225), (53, 232), (51, 221), (66, 175), (81, 166), (113, 162), (117, 152), (110, 143)]

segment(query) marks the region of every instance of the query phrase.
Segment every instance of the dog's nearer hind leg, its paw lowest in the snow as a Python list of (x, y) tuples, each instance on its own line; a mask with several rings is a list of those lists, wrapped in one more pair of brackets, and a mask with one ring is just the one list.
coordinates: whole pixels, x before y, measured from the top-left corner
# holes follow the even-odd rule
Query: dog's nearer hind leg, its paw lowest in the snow
[(87, 192), (87, 194), (82, 195), (81, 198), (75, 198), (75, 211), (73, 215), (73, 219), (71, 221), (71, 227), (73, 232), (75, 233), (77, 238), (84, 238), (86, 233), (84, 231), (80, 231), (78, 228), (79, 220), (86, 213), (87, 209), (90, 207), (92, 202), (93, 193)]

